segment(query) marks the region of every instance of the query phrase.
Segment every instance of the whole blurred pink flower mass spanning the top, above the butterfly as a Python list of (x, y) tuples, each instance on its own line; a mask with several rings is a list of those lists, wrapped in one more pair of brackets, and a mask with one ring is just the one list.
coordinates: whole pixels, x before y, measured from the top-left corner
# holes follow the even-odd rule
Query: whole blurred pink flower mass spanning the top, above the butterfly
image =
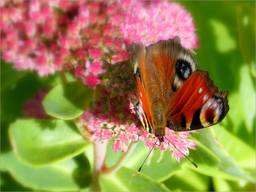
[(198, 47), (190, 13), (170, 1), (1, 1), (0, 25), (2, 58), (15, 68), (64, 69), (91, 88), (102, 83), (102, 59), (130, 59), (133, 42), (178, 35)]

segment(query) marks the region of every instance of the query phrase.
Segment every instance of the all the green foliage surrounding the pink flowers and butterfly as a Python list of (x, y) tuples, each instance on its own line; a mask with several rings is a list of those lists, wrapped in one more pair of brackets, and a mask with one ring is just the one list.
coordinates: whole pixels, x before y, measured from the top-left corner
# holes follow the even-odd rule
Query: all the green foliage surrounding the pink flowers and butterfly
[[(189, 158), (198, 169), (154, 150), (138, 174), (148, 154), (139, 141), (120, 170), (100, 174), (99, 185), (103, 191), (255, 191), (255, 1), (178, 2), (197, 25), (199, 69), (209, 71), (220, 91), (230, 90), (230, 111), (220, 124), (191, 133), (199, 146)], [(93, 94), (81, 82), (60, 84), (58, 74), (41, 78), (1, 61), (1, 190), (88, 191), (93, 148), (75, 124), (23, 119), (24, 102), (43, 87), (54, 87), (43, 104), (59, 119), (81, 115)], [(110, 148), (109, 167), (122, 154)]]

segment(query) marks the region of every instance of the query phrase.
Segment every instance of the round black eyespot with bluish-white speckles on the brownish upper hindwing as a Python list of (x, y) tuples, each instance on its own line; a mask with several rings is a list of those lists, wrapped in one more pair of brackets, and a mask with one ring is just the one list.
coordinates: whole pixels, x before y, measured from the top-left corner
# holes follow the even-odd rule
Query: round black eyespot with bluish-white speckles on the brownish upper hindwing
[(176, 64), (176, 73), (183, 81), (187, 80), (192, 73), (191, 65), (187, 61), (178, 60)]

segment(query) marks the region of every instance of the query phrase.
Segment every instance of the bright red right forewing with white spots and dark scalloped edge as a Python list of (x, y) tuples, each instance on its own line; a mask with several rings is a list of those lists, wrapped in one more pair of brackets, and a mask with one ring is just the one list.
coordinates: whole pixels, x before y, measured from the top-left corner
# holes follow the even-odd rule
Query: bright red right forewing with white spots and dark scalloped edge
[(229, 110), (228, 94), (228, 90), (218, 91), (207, 71), (196, 70), (170, 101), (166, 126), (192, 131), (221, 122)]

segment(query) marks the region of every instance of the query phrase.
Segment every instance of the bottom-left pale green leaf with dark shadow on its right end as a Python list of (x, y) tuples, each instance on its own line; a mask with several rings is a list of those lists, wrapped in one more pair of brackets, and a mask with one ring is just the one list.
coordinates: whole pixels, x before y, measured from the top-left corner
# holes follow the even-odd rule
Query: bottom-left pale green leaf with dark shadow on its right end
[(33, 168), (20, 163), (14, 153), (1, 154), (1, 170), (35, 191), (78, 191), (88, 187), (90, 165), (84, 154), (50, 166)]

